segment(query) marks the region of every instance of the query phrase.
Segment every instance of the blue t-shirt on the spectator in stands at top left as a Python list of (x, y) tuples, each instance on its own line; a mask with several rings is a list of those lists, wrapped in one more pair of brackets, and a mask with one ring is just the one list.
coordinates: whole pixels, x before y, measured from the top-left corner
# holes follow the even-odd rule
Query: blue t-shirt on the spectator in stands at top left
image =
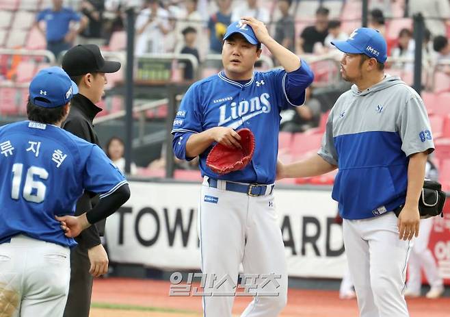
[(63, 40), (69, 31), (71, 21), (79, 22), (81, 16), (70, 8), (62, 8), (59, 11), (47, 9), (39, 12), (38, 22), (45, 20), (47, 22), (46, 38), (47, 42)]

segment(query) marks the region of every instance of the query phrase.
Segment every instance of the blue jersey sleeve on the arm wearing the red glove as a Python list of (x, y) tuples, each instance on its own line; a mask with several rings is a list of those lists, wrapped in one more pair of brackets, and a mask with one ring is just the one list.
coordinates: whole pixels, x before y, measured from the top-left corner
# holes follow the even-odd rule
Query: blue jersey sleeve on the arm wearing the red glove
[(175, 156), (180, 160), (194, 159), (194, 157), (186, 157), (186, 143), (191, 134), (198, 134), (203, 130), (198, 88), (199, 86), (194, 84), (187, 90), (174, 119), (172, 148)]

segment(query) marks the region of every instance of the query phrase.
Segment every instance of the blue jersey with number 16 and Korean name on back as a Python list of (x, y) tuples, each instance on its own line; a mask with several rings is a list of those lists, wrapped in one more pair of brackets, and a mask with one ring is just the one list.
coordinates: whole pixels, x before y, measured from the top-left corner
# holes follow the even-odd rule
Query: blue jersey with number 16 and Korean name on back
[(0, 127), (0, 243), (24, 234), (75, 246), (55, 215), (74, 214), (83, 190), (102, 198), (124, 183), (100, 147), (59, 127), (32, 121)]

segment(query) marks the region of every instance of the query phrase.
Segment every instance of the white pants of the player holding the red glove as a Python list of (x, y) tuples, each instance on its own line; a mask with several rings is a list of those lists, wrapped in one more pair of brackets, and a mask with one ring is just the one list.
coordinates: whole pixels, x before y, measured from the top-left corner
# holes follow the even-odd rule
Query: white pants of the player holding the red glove
[[(222, 181), (211, 188), (204, 181), (198, 210), (202, 272), (218, 279), (228, 275), (237, 283), (239, 264), (246, 274), (276, 274), (279, 287), (269, 283), (241, 317), (276, 317), (287, 303), (287, 263), (274, 207), (273, 194), (248, 196), (224, 190)], [(205, 196), (208, 196), (205, 199)], [(259, 280), (258, 282), (261, 282)], [(217, 292), (217, 290), (215, 290)], [(220, 292), (233, 292), (224, 283)], [(204, 296), (204, 317), (231, 317), (234, 296)]]

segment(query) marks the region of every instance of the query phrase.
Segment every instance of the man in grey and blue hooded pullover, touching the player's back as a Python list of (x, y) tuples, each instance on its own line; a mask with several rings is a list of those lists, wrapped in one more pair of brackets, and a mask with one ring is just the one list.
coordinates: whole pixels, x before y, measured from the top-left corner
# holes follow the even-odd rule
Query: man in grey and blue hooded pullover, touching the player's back
[[(278, 177), (339, 168), (332, 197), (344, 219), (360, 316), (406, 317), (406, 263), (419, 233), (425, 163), (434, 150), (427, 112), (419, 94), (384, 73), (386, 41), (378, 31), (362, 27), (332, 44), (345, 53), (341, 74), (354, 85), (334, 104), (319, 155), (278, 164)], [(393, 211), (401, 206), (397, 218)]]

